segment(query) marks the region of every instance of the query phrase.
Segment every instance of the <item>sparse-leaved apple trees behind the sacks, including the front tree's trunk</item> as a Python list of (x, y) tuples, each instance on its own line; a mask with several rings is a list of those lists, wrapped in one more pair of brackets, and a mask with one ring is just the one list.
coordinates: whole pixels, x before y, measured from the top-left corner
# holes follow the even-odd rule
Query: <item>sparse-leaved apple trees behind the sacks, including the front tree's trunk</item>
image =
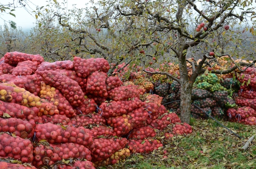
[[(181, 85), (181, 120), (186, 123), (191, 89), (195, 78), (205, 71), (206, 62), (223, 55), (229, 55), (230, 62), (238, 58), (254, 60), (256, 56), (252, 0), (92, 0), (83, 9), (70, 10), (65, 3), (55, 0), (52, 6), (38, 7), (38, 26), (27, 36), (2, 26), (0, 31), (5, 34), (1, 33), (0, 53), (39, 53), (49, 61), (71, 59), (73, 55), (104, 57), (113, 63), (144, 68), (177, 62), (180, 79), (168, 77)], [(192, 57), (195, 61), (189, 60)], [(198, 59), (201, 61), (197, 64)], [(187, 64), (193, 68), (191, 77)], [(212, 72), (229, 73), (248, 65), (235, 64)]]

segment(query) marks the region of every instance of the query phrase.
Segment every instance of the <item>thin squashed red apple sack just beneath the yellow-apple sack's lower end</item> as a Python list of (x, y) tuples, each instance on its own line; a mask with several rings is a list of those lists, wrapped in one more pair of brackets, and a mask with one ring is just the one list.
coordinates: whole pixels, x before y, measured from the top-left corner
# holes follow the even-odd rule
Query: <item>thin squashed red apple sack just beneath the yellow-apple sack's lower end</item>
[(52, 116), (34, 116), (34, 121), (36, 123), (52, 123), (52, 124), (62, 124), (62, 125), (72, 125), (70, 118), (61, 114), (54, 114)]

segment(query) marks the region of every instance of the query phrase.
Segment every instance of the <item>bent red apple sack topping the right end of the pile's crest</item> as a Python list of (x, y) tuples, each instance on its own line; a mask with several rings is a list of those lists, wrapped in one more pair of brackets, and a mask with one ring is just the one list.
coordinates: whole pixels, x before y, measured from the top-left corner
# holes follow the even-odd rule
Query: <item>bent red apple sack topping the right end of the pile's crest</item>
[(74, 57), (74, 70), (79, 77), (88, 77), (91, 72), (103, 71), (108, 72), (110, 69), (109, 63), (104, 58), (82, 59)]

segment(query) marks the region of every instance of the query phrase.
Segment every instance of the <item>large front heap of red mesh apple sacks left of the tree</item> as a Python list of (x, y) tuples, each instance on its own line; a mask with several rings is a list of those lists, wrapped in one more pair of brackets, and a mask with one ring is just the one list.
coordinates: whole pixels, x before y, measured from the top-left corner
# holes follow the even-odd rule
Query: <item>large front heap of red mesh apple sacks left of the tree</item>
[[(29, 64), (33, 71), (20, 74)], [(103, 58), (50, 63), (40, 55), (7, 53), (0, 61), (0, 162), (94, 169), (163, 146), (157, 134), (192, 132), (152, 94), (150, 75), (132, 73), (135, 83), (123, 82), (108, 77), (109, 69)], [(184, 132), (173, 132), (175, 123)]]

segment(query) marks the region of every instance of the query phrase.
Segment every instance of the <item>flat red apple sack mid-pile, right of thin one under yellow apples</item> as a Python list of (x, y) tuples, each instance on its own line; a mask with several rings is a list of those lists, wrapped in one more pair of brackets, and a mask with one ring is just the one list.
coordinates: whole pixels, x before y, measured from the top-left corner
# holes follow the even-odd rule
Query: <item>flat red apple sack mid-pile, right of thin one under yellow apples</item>
[(104, 125), (106, 124), (106, 119), (103, 118), (100, 114), (89, 113), (87, 115), (81, 114), (77, 115), (71, 119), (71, 123), (76, 126), (85, 127), (87, 125)]

